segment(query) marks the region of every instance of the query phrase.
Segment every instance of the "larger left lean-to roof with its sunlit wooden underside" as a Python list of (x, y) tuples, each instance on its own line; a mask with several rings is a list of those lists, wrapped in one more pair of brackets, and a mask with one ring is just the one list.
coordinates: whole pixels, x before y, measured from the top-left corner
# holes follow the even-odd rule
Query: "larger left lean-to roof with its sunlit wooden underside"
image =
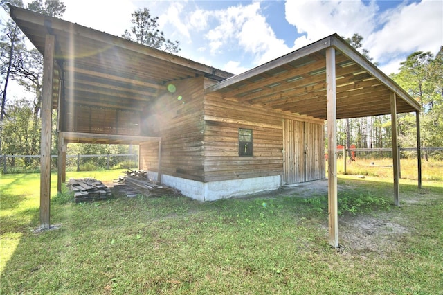
[[(46, 35), (55, 36), (55, 78), (64, 103), (140, 111), (170, 82), (204, 75), (233, 76), (183, 57), (69, 21), (10, 6), (10, 15), (40, 53)], [(53, 91), (57, 107), (58, 84)]]

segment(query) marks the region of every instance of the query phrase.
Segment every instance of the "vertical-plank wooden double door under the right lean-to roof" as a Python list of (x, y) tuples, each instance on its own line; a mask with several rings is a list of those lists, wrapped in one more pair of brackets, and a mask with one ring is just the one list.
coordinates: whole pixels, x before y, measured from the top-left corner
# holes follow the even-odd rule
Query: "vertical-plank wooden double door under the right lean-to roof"
[(284, 184), (325, 178), (323, 124), (286, 119), (283, 123)]

